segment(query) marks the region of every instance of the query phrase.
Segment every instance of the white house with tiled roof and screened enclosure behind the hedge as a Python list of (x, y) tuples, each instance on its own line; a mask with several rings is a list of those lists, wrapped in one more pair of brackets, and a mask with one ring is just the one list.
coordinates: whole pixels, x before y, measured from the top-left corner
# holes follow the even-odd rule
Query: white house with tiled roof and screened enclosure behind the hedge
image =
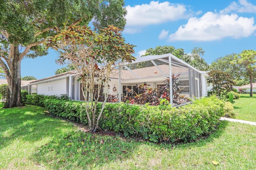
[[(183, 88), (186, 97), (199, 98), (207, 96), (206, 79), (208, 74), (205, 71), (195, 69), (170, 53), (148, 55), (132, 63), (122, 63), (119, 67), (115, 67), (110, 76), (108, 93), (110, 95), (123, 94), (126, 93), (126, 88), (139, 93), (136, 87), (143, 84), (147, 84), (147, 87), (158, 88), (172, 75), (178, 77), (179, 86)], [(37, 94), (67, 94), (73, 100), (82, 101), (84, 97), (82, 96), (81, 84), (77, 79), (76, 71), (73, 70), (32, 81), (29, 86), (36, 85)], [(171, 79), (170, 86), (172, 86)], [(119, 95), (119, 101), (121, 101), (121, 95)]]

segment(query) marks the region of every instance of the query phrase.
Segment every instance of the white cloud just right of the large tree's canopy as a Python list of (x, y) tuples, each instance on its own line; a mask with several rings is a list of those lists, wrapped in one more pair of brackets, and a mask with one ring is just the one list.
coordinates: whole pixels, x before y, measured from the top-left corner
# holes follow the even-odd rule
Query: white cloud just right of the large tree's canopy
[(184, 4), (151, 1), (150, 4), (126, 6), (126, 28), (124, 32), (138, 32), (144, 26), (187, 19), (192, 16)]

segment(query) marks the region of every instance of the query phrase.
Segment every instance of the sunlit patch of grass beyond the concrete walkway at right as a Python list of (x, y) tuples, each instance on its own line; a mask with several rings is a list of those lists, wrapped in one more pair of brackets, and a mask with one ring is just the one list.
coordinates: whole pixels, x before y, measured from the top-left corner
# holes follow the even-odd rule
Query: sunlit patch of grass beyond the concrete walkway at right
[(235, 119), (256, 122), (256, 95), (240, 94), (240, 99), (233, 101)]

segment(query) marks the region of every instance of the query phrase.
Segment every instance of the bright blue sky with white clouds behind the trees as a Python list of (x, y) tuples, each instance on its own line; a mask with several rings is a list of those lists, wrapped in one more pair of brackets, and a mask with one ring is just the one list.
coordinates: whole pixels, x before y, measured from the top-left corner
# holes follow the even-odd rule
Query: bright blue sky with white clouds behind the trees
[[(219, 57), (256, 50), (256, 0), (125, 0), (126, 43), (136, 45), (135, 57), (149, 48), (174, 46), (190, 53), (202, 47), (208, 64)], [(54, 75), (58, 54), (24, 58), (21, 76), (37, 79)]]

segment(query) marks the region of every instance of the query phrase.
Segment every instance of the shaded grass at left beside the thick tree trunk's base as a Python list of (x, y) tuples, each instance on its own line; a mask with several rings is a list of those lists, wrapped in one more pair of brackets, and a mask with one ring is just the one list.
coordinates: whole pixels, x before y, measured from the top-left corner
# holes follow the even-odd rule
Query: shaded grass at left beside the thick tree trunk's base
[(38, 106), (0, 109), (0, 149), (18, 138), (36, 142), (52, 135), (52, 130), (62, 131), (58, 128), (61, 121), (47, 118), (44, 112), (46, 109)]

